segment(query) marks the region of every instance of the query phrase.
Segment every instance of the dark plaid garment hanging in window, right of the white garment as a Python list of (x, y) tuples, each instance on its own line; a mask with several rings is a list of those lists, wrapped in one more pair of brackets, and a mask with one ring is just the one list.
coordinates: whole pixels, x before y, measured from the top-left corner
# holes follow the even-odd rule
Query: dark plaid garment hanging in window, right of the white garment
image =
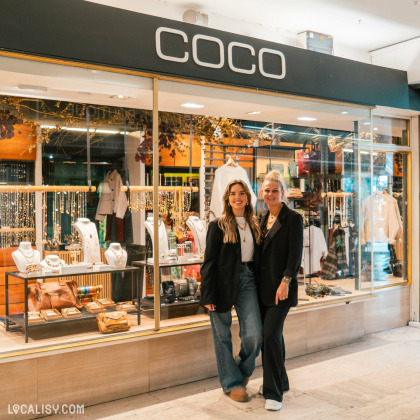
[(345, 233), (339, 226), (332, 235), (328, 255), (322, 266), (321, 277), (326, 280), (334, 280), (337, 277), (347, 277), (348, 275)]

